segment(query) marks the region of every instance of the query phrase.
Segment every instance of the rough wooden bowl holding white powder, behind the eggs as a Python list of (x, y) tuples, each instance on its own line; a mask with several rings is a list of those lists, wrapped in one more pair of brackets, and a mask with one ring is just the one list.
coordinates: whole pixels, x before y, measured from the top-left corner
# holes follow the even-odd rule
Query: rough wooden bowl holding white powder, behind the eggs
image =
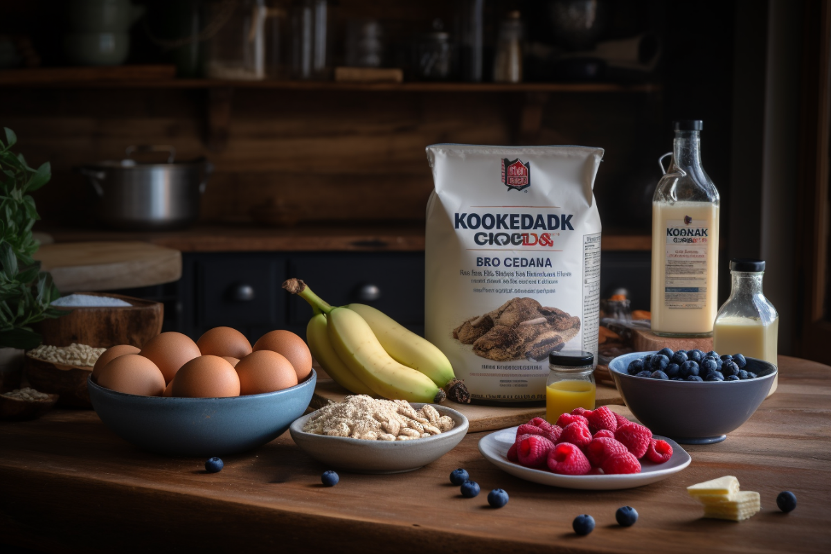
[(43, 336), (43, 344), (70, 346), (76, 342), (96, 348), (110, 348), (116, 345), (141, 348), (145, 342), (161, 332), (162, 318), (165, 315), (165, 306), (161, 302), (103, 292), (79, 294), (119, 298), (130, 302), (131, 306), (59, 307), (58, 309), (71, 313), (57, 319), (41, 321), (36, 326), (36, 331)]

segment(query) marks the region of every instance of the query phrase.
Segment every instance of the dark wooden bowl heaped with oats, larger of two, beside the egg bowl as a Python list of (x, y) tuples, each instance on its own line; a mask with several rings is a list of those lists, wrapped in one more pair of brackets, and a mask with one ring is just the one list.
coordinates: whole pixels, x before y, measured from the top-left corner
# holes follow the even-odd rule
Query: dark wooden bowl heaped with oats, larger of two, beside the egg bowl
[(23, 367), (32, 389), (60, 395), (61, 406), (66, 408), (92, 408), (90, 393), (86, 390), (91, 366), (53, 364), (27, 355)]

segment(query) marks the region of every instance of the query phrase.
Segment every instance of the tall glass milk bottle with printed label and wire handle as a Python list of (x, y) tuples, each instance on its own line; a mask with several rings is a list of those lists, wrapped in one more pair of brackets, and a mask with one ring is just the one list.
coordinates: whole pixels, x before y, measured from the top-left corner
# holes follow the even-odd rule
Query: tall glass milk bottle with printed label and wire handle
[(658, 336), (711, 336), (718, 308), (719, 192), (701, 167), (699, 131), (700, 120), (675, 122), (671, 163), (652, 197)]

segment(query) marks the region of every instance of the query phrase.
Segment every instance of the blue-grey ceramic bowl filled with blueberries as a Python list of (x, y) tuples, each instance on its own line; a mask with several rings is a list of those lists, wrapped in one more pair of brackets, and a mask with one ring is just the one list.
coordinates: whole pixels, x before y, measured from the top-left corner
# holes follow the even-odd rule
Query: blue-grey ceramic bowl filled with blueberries
[(655, 352), (619, 355), (609, 373), (627, 408), (654, 434), (681, 444), (719, 443), (738, 429), (765, 400), (776, 366), (747, 358), (745, 370), (758, 375), (742, 381), (672, 381), (627, 374), (629, 362)]

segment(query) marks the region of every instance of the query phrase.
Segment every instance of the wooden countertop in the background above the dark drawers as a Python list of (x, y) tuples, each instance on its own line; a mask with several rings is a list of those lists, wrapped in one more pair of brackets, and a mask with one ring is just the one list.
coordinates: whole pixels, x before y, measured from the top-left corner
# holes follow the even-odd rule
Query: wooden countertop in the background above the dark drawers
[[(144, 241), (181, 252), (420, 252), (424, 224), (298, 225), (292, 228), (197, 225), (182, 231), (125, 232), (84, 228), (44, 228), (56, 243)], [(649, 235), (607, 233), (603, 250), (650, 250)]]

